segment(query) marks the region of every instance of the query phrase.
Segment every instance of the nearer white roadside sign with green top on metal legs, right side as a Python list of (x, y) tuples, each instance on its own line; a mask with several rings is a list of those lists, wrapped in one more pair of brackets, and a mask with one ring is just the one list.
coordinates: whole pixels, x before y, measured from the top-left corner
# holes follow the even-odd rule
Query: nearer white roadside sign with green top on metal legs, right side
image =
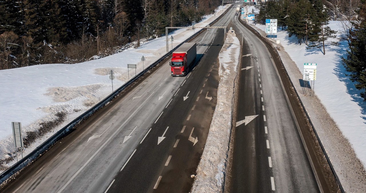
[[(314, 86), (316, 79), (317, 79), (317, 63), (304, 63), (304, 73), (303, 73), (304, 94), (306, 94), (306, 90), (308, 90), (310, 96), (314, 95)], [(308, 85), (309, 81), (310, 85)]]

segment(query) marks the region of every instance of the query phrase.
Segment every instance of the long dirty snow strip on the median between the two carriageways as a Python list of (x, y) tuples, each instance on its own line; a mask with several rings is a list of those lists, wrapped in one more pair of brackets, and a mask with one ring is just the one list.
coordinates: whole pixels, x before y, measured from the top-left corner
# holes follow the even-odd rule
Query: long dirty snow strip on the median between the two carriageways
[(220, 82), (217, 89), (217, 105), (192, 192), (223, 192), (225, 167), (228, 156), (234, 103), (234, 82), (240, 56), (240, 42), (235, 33), (229, 32), (226, 40), (231, 46), (219, 55)]

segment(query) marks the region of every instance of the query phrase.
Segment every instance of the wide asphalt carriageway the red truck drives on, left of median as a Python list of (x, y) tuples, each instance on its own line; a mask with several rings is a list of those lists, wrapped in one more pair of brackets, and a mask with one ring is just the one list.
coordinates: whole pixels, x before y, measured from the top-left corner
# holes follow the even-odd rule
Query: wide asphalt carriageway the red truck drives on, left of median
[(160, 64), (1, 192), (188, 192), (216, 106), (223, 35), (206, 30), (186, 77)]

